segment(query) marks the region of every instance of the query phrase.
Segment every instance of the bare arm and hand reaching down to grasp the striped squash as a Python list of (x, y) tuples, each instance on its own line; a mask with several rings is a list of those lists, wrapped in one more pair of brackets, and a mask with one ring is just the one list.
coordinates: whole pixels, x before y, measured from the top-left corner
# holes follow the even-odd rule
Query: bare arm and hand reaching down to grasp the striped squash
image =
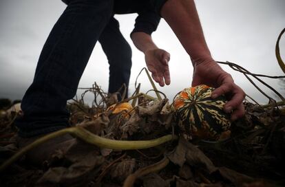
[(191, 58), (194, 67), (192, 86), (205, 84), (216, 87), (213, 98), (222, 94), (231, 98), (225, 104), (224, 111), (233, 111), (232, 120), (242, 117), (244, 91), (235, 85), (231, 75), (224, 72), (211, 57), (194, 1), (168, 0), (160, 13)]

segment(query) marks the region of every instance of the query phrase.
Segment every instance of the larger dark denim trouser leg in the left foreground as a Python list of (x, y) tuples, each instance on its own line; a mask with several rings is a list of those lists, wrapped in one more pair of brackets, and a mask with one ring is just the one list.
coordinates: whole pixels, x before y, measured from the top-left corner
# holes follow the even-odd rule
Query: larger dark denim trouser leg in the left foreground
[(72, 0), (43, 46), (32, 85), (25, 92), (23, 118), (15, 125), (30, 137), (68, 124), (67, 100), (76, 94), (94, 45), (108, 23), (113, 0)]

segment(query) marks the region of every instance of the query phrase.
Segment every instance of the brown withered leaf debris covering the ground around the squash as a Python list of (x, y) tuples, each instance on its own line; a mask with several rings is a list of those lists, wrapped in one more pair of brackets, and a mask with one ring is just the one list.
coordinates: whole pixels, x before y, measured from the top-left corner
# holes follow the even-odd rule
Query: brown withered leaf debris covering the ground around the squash
[[(94, 94), (104, 96), (102, 92)], [(179, 134), (167, 98), (151, 100), (146, 96), (140, 94), (136, 107), (127, 111), (129, 116), (107, 110), (118, 103), (116, 96), (106, 96), (92, 107), (83, 99), (74, 100), (68, 105), (70, 123), (114, 140)], [(2, 163), (18, 151), (17, 128), (12, 122), (21, 111), (9, 108), (12, 103), (8, 101), (1, 100)], [(284, 107), (244, 105), (246, 115), (233, 123), (227, 140), (187, 142), (180, 137), (162, 146), (120, 151), (74, 138), (67, 151), (56, 150), (41, 167), (21, 157), (1, 173), (1, 186), (283, 186)]]

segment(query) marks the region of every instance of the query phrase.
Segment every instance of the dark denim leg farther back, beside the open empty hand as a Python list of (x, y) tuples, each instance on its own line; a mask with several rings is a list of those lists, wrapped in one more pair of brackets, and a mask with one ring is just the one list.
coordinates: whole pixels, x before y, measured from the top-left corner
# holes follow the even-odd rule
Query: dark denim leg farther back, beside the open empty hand
[[(128, 89), (131, 74), (131, 47), (120, 33), (119, 23), (114, 17), (110, 19), (98, 41), (109, 62), (109, 93), (118, 91), (124, 83)], [(120, 94), (123, 94), (123, 91)]]

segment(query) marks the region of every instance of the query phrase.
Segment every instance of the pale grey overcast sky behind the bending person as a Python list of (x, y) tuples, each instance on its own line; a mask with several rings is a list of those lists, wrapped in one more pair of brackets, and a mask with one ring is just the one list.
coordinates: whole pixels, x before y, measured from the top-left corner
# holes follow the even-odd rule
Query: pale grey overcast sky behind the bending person
[[(275, 58), (276, 39), (279, 32), (285, 28), (284, 0), (197, 0), (196, 6), (204, 36), (216, 61), (231, 61), (256, 74), (284, 75)], [(60, 0), (0, 1), (0, 98), (14, 100), (23, 97), (25, 90), (32, 83), (45, 39), (64, 9), (65, 4)], [(129, 38), (136, 14), (115, 17), (133, 50), (129, 85), (132, 93), (136, 76), (140, 69), (145, 67), (143, 54), (136, 50)], [(181, 89), (191, 86), (193, 67), (189, 56), (163, 19), (152, 36), (158, 47), (171, 54), (171, 85), (157, 86), (172, 100)], [(285, 36), (280, 41), (280, 49), (282, 58), (285, 59)], [(233, 76), (235, 83), (240, 85), (246, 94), (258, 102), (268, 102), (242, 74), (226, 65), (222, 65), (222, 68)], [(79, 87), (91, 87), (96, 81), (107, 91), (108, 69), (107, 58), (101, 45), (97, 43)], [(285, 90), (282, 90), (284, 85), (281, 85), (279, 80), (264, 80), (278, 91), (283, 91), (282, 94), (285, 95)], [(151, 89), (145, 74), (140, 76), (138, 82), (142, 83), (142, 91)], [(273, 96), (271, 91), (262, 88), (268, 95)]]

